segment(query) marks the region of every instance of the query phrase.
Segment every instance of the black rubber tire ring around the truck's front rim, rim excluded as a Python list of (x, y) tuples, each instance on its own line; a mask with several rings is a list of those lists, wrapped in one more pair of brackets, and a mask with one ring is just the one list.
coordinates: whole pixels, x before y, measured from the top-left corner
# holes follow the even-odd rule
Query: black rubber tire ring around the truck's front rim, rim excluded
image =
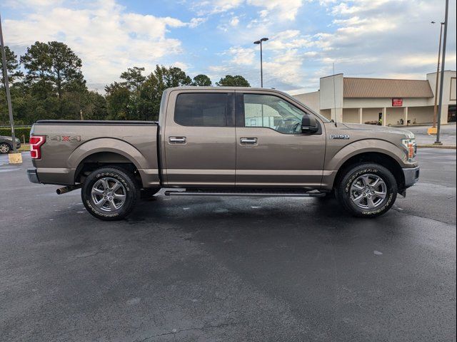
[[(352, 183), (361, 175), (368, 174), (381, 177), (383, 182), (386, 183), (387, 191), (387, 196), (383, 199), (381, 205), (371, 210), (358, 207), (351, 199)], [(355, 214), (358, 217), (377, 217), (384, 214), (392, 207), (397, 197), (397, 190), (395, 177), (393, 177), (392, 173), (387, 170), (386, 167), (374, 164), (358, 165), (357, 167), (348, 170), (346, 175), (341, 179), (341, 183), (338, 187), (338, 197), (343, 203), (343, 206), (352, 214)]]

